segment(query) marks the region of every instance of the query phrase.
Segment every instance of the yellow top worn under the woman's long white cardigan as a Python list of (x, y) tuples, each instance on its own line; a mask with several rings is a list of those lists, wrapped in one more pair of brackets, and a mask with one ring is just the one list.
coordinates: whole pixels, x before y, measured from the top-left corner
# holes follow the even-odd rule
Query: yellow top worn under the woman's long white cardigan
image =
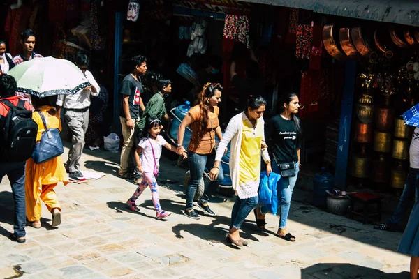
[(239, 185), (256, 185), (256, 193), (258, 191), (258, 183), (260, 176), (260, 146), (263, 140), (262, 125), (253, 125), (249, 120), (243, 120), (242, 144), (240, 148), (240, 176)]

